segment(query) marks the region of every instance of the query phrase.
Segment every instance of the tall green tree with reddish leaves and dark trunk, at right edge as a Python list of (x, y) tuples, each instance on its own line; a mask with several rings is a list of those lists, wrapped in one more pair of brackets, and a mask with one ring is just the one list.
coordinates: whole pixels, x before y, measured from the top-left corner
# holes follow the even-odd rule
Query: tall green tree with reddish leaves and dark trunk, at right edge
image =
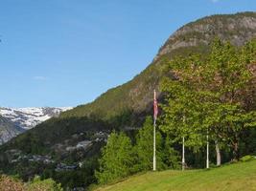
[[(218, 142), (224, 141), (232, 147), (233, 159), (236, 160), (239, 159), (241, 133), (248, 123), (254, 121), (252, 113), (255, 113), (255, 108), (254, 111), (246, 110), (244, 102), (252, 96), (249, 85), (255, 75), (249, 67), (256, 57), (255, 48), (253, 41), (242, 49), (236, 49), (228, 42), (222, 43), (216, 39), (201, 73), (207, 86), (205, 84), (205, 88), (200, 88), (200, 92), (208, 95), (202, 97), (203, 102), (211, 106), (208, 107), (204, 124), (213, 132), (217, 142), (216, 150)], [(244, 97), (245, 92), (250, 93)]]

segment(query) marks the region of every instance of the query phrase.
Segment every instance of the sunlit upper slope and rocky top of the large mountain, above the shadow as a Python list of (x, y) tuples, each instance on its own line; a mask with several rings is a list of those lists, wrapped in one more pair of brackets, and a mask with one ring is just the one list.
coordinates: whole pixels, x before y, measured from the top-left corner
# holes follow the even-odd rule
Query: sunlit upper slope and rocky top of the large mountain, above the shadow
[(244, 45), (256, 36), (256, 12), (207, 16), (181, 27), (168, 38), (141, 74), (122, 86), (108, 90), (92, 103), (64, 112), (60, 117), (111, 118), (126, 111), (136, 114), (149, 111), (153, 89), (158, 90), (159, 80), (164, 75), (162, 60), (176, 55), (207, 53), (209, 43), (217, 36), (236, 46)]

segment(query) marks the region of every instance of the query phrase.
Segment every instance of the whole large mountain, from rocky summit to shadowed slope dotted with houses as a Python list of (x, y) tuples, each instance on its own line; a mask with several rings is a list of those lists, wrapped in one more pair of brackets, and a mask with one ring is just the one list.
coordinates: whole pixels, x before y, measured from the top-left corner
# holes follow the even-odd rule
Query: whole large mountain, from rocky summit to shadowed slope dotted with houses
[[(109, 132), (112, 129), (126, 130), (132, 137), (145, 116), (151, 114), (153, 89), (161, 99), (159, 83), (167, 75), (162, 70), (164, 61), (176, 55), (207, 54), (209, 44), (217, 36), (236, 46), (244, 45), (256, 37), (256, 12), (207, 16), (181, 27), (163, 44), (151, 64), (132, 80), (108, 90), (91, 103), (52, 117), (0, 146), (0, 170), (17, 172), (24, 180), (35, 174), (51, 175), (64, 186), (70, 186), (79, 180), (71, 180), (68, 173), (58, 171), (58, 166), (64, 166), (64, 163), (76, 166), (84, 161), (86, 170), (77, 169), (72, 173), (74, 177), (85, 173), (82, 174), (87, 180), (85, 184), (93, 182), (91, 166), (97, 161)], [(86, 143), (82, 148), (79, 146), (81, 142)], [(47, 161), (51, 158), (54, 162), (47, 163), (46, 157)], [(43, 159), (46, 163), (43, 167), (30, 163), (35, 159)], [(84, 180), (79, 182), (84, 183)]]

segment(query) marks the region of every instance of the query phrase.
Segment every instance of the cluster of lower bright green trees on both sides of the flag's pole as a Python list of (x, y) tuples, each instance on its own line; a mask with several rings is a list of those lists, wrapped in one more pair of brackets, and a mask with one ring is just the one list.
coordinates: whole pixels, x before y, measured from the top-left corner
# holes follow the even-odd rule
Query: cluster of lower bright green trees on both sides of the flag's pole
[[(147, 117), (143, 127), (139, 130), (135, 141), (121, 132), (113, 132), (107, 139), (99, 159), (100, 168), (95, 176), (99, 183), (125, 178), (138, 172), (152, 169), (152, 119)], [(156, 161), (157, 168), (180, 168), (178, 152), (169, 145), (169, 138), (156, 133)]]

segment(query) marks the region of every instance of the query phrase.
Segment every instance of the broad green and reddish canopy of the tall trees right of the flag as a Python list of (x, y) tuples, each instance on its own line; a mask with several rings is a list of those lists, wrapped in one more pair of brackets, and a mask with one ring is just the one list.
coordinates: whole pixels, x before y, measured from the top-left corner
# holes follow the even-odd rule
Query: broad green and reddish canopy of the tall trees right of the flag
[[(231, 145), (234, 159), (239, 158), (238, 142), (242, 133), (255, 127), (255, 91), (251, 86), (256, 74), (255, 40), (241, 49), (216, 39), (209, 56), (177, 57), (168, 63), (173, 78), (165, 78), (162, 91), (161, 129), (175, 137), (186, 138), (185, 145), (198, 150), (206, 134), (213, 140)], [(246, 96), (243, 96), (246, 94)], [(250, 103), (250, 106), (246, 104)]]

